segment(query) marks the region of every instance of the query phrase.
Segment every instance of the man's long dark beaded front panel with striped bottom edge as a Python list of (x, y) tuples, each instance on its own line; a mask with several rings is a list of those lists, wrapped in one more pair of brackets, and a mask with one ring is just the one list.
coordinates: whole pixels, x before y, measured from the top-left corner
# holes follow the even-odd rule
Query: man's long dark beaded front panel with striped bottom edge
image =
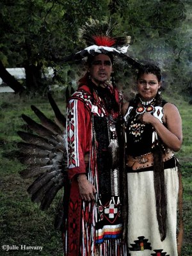
[[(93, 139), (97, 154), (97, 220), (95, 223), (96, 243), (105, 239), (118, 239), (122, 233), (120, 216), (119, 169), (113, 154), (117, 154), (116, 125), (108, 115), (102, 99), (97, 99), (102, 115), (94, 115)], [(110, 150), (111, 147), (111, 150)], [(118, 158), (118, 157), (117, 157)]]

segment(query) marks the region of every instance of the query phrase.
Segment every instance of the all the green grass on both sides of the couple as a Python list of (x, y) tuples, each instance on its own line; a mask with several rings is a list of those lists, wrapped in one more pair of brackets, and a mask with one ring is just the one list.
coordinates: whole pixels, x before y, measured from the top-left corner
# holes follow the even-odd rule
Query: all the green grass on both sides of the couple
[[(182, 164), (182, 182), (184, 186), (184, 244), (182, 246), (182, 256), (189, 256), (192, 252), (191, 235), (191, 169), (192, 169), (192, 108), (188, 102), (184, 102), (182, 97), (167, 97), (167, 100), (174, 102), (179, 108), (182, 116), (184, 142), (182, 149), (177, 153)], [(65, 111), (65, 102), (56, 100), (62, 112)], [(51, 209), (43, 212), (39, 205), (33, 204), (26, 189), (31, 180), (23, 180), (19, 176), (19, 170), (24, 166), (12, 157), (8, 159), (2, 156), (3, 152), (10, 152), (15, 149), (17, 141), (17, 131), (24, 124), (20, 115), (25, 113), (35, 118), (31, 111), (31, 104), (35, 104), (50, 118), (54, 113), (47, 99), (35, 100), (26, 97), (20, 99), (13, 94), (0, 95), (0, 237), (1, 246), (3, 244), (20, 246), (43, 246), (42, 252), (35, 250), (10, 250), (5, 252), (0, 249), (0, 255), (63, 255), (60, 231), (54, 230), (53, 220), (57, 200)], [(35, 118), (38, 120), (38, 118)], [(173, 255), (172, 255), (173, 256)]]

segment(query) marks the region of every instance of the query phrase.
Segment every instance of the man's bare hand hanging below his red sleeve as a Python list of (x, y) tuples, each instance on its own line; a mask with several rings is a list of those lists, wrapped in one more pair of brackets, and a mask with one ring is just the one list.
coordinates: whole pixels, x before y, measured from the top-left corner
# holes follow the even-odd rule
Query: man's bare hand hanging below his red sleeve
[(79, 184), (79, 194), (81, 199), (84, 201), (90, 202), (91, 200), (95, 200), (94, 194), (97, 192), (95, 186), (91, 182), (88, 181), (86, 175), (79, 174), (77, 177), (77, 181)]

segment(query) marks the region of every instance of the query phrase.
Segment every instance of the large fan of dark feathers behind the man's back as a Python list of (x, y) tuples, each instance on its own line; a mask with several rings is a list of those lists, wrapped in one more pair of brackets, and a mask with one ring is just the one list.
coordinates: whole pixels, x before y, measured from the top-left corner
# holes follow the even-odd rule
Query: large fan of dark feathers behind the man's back
[[(20, 138), (25, 141), (17, 144), (20, 149), (18, 158), (21, 163), (28, 164), (28, 168), (21, 170), (19, 173), (24, 179), (35, 177), (28, 188), (28, 193), (31, 195), (33, 202), (40, 202), (40, 209), (42, 210), (49, 208), (56, 193), (61, 188), (65, 188), (65, 193), (69, 188), (67, 150), (65, 148), (66, 118), (61, 114), (50, 93), (48, 97), (56, 122), (52, 122), (42, 111), (35, 106), (31, 106), (41, 124), (38, 124), (29, 116), (22, 115), (31, 131), (17, 132)], [(65, 194), (64, 197), (68, 198)], [(56, 223), (57, 228), (61, 227), (62, 211), (63, 209), (60, 209), (61, 216)]]

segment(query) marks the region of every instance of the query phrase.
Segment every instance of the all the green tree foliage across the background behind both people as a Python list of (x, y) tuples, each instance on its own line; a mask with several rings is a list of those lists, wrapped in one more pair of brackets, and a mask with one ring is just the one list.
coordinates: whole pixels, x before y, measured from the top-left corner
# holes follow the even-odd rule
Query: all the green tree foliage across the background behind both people
[[(63, 65), (59, 60), (84, 47), (78, 38), (79, 28), (89, 19), (111, 19), (118, 23), (120, 33), (127, 32), (132, 37), (130, 56), (141, 62), (150, 60), (158, 63), (172, 90), (192, 95), (190, 1), (1, 2), (0, 57), (6, 67), (26, 68), (29, 90), (45, 91), (49, 83), (66, 88), (68, 83), (74, 81), (74, 75), (70, 77), (74, 66)], [(54, 68), (53, 81), (42, 78), (45, 67)], [(130, 67), (124, 64), (117, 70), (121, 71), (117, 80), (125, 76), (124, 87), (130, 86)]]

